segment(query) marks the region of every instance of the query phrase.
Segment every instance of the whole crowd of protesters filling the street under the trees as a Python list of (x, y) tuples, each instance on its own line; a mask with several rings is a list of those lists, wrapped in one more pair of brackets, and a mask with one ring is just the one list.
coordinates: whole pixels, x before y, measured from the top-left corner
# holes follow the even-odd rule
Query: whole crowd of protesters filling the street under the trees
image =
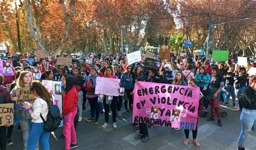
[[(245, 149), (246, 134), (252, 127), (256, 128), (256, 76), (248, 74), (248, 70), (256, 67), (256, 62), (248, 60), (247, 66), (239, 66), (237, 54), (230, 54), (225, 62), (214, 61), (211, 56), (206, 60), (204, 56), (187, 55), (174, 56), (170, 60), (161, 60), (159, 71), (145, 70), (144, 60), (128, 65), (125, 55), (95, 55), (91, 64), (83, 59), (72, 56), (72, 65), (57, 65), (57, 58), (37, 58), (33, 54), (28, 55), (2, 55), (2, 60), (12, 60), (12, 69), (15, 75), (0, 75), (0, 104), (15, 103), (17, 101), (16, 90), (20, 87), (29, 87), (35, 102), (32, 105), (24, 103), (21, 111), (17, 108), (17, 118), (22, 130), (24, 149), (35, 149), (38, 141), (41, 141), (43, 149), (50, 149), (49, 132), (44, 131), (43, 119), (46, 119), (51, 105), (51, 92), (41, 83), (42, 80), (61, 81), (61, 94), (63, 96), (62, 117), (64, 128), (62, 138), (65, 139), (65, 149), (78, 146), (76, 139), (76, 120), (83, 120), (82, 113), (86, 109), (85, 103), (90, 104), (91, 117), (86, 122), (98, 124), (102, 121), (102, 128), (110, 124), (109, 116), (112, 116), (112, 127), (117, 129), (116, 118), (122, 113), (133, 111), (134, 84), (138, 81), (185, 85), (200, 88), (203, 98), (199, 101), (198, 118), (205, 117), (210, 106), (211, 117), (207, 121), (215, 120), (217, 113), (217, 125), (222, 126), (220, 105), (234, 108), (241, 112), (241, 134), (239, 136), (238, 149)], [(57, 57), (69, 58), (70, 55)], [(156, 56), (156, 59), (159, 59)], [(120, 87), (125, 89), (124, 96), (96, 95), (96, 78), (119, 78)], [(230, 104), (230, 97), (232, 102)], [(236, 99), (245, 99), (245, 105), (240, 106)], [(124, 101), (124, 110), (123, 109)], [(99, 120), (99, 115), (104, 114), (105, 120)], [(132, 113), (131, 113), (132, 114)], [(41, 117), (42, 116), (42, 117)], [(75, 124), (74, 124), (75, 122)], [(149, 140), (147, 125), (143, 123), (132, 124), (134, 131), (139, 132), (136, 139), (144, 142)], [(7, 127), (7, 129), (6, 129)], [(0, 127), (0, 149), (5, 150), (6, 145), (12, 145), (11, 133), (14, 125)], [(5, 134), (7, 130), (7, 134)], [(180, 128), (174, 128), (180, 130)], [(184, 130), (184, 145), (189, 143), (189, 130)], [(200, 146), (197, 140), (197, 127), (192, 131), (195, 146)]]

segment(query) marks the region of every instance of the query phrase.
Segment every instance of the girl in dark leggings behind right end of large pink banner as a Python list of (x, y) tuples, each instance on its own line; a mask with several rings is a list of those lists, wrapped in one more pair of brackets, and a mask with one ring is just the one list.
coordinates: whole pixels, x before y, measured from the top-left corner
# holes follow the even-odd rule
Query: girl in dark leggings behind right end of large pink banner
[[(188, 86), (197, 88), (197, 81), (194, 78), (191, 78), (188, 81)], [(201, 94), (201, 92), (200, 92), (200, 94)], [(200, 98), (199, 106), (198, 106), (198, 118), (201, 117), (201, 112), (203, 111), (203, 106), (204, 106), (203, 98)], [(198, 120), (197, 120), (197, 125), (198, 125)], [(188, 145), (188, 141), (189, 141), (188, 137), (190, 135), (190, 130), (184, 129), (184, 132), (185, 132), (186, 139), (183, 141), (183, 144), (184, 145)], [(199, 147), (200, 144), (199, 144), (199, 142), (197, 140), (197, 126), (196, 126), (196, 130), (192, 130), (192, 134), (193, 134), (193, 144), (195, 146)]]

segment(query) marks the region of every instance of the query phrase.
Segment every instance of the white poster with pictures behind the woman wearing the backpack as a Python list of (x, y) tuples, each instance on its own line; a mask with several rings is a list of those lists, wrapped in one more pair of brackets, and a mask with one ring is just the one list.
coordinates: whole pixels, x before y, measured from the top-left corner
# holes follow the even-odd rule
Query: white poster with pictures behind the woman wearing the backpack
[(53, 104), (58, 106), (60, 113), (62, 113), (62, 96), (60, 95), (62, 82), (43, 80), (42, 83), (53, 95)]

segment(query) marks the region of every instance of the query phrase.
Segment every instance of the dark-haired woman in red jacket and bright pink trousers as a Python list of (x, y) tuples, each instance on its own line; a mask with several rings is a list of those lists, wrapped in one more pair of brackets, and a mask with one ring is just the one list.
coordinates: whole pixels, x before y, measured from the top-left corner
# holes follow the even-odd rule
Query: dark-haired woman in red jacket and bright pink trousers
[(74, 118), (77, 113), (78, 90), (74, 76), (65, 77), (62, 115), (64, 119), (63, 134), (65, 136), (65, 149), (77, 147), (77, 135)]

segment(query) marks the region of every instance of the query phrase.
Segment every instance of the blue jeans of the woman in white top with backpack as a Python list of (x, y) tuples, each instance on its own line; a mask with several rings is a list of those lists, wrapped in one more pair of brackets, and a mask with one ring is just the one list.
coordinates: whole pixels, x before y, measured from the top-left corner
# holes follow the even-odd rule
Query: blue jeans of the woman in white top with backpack
[(49, 137), (50, 132), (44, 130), (44, 123), (32, 123), (29, 132), (28, 150), (34, 150), (38, 146), (39, 139), (44, 150), (50, 149)]

